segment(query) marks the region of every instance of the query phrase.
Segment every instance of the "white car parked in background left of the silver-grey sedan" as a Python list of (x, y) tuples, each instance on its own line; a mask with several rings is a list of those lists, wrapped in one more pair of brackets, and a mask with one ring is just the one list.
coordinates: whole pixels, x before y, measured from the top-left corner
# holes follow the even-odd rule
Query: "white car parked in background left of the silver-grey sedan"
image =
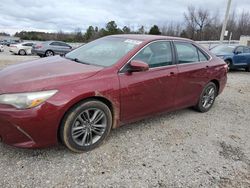
[(30, 55), (32, 46), (34, 45), (33, 42), (23, 42), (19, 44), (11, 44), (9, 51), (13, 54), (17, 55)]

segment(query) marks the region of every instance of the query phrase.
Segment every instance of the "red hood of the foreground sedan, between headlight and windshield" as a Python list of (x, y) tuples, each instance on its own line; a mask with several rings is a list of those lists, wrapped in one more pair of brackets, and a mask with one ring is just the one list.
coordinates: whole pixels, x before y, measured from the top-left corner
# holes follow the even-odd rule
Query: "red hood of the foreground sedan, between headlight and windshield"
[(0, 71), (0, 94), (56, 89), (58, 85), (89, 78), (102, 69), (60, 56), (20, 63)]

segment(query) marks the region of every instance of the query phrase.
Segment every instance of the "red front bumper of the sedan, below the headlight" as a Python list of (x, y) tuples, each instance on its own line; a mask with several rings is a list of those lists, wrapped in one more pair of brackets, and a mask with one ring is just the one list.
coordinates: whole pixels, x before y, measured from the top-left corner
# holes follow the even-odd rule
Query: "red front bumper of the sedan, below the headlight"
[(1, 141), (21, 148), (55, 145), (60, 118), (60, 108), (49, 103), (27, 110), (0, 105)]

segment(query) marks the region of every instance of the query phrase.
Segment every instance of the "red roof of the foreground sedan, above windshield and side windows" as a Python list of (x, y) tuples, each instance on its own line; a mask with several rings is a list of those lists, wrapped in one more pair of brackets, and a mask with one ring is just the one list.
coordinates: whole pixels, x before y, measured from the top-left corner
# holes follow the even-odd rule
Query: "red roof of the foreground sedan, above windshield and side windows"
[(119, 37), (133, 40), (141, 40), (141, 41), (153, 41), (153, 40), (184, 40), (184, 41), (192, 41), (186, 38), (180, 37), (171, 37), (171, 36), (162, 36), (162, 35), (143, 35), (143, 34), (121, 34), (121, 35), (110, 35), (108, 37)]

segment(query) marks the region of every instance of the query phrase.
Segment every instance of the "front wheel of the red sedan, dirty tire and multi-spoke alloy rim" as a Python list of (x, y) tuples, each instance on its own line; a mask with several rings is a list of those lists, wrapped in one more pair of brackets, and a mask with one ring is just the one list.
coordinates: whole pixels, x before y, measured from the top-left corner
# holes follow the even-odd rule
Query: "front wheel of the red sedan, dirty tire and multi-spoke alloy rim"
[(59, 130), (60, 139), (69, 150), (82, 153), (103, 143), (111, 127), (112, 113), (108, 106), (98, 100), (86, 100), (66, 114)]

